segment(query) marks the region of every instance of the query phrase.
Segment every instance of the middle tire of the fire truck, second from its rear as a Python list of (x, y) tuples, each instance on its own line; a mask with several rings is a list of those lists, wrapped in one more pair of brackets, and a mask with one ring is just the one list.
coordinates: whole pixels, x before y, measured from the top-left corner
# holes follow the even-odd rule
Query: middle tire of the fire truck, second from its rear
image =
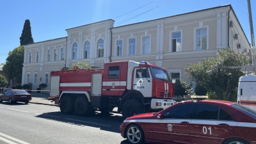
[(76, 99), (75, 111), (76, 111), (76, 114), (79, 116), (88, 116), (92, 114), (93, 108), (92, 106), (90, 106), (88, 99), (82, 96)]

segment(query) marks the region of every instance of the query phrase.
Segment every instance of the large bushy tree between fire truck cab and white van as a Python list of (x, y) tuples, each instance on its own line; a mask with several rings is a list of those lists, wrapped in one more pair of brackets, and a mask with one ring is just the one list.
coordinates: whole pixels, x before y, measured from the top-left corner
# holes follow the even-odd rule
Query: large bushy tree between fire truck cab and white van
[(185, 67), (186, 74), (191, 82), (204, 86), (209, 99), (236, 101), (239, 77), (243, 72), (239, 69), (221, 69), (220, 81), (218, 67), (248, 65), (248, 58), (244, 54), (236, 54), (230, 48), (220, 49), (215, 58), (207, 58), (202, 63), (191, 64)]

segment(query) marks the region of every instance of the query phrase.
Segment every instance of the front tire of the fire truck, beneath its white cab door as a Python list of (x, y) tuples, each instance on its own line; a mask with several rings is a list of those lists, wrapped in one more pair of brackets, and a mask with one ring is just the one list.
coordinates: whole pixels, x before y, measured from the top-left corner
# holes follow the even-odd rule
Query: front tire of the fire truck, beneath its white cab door
[(143, 106), (141, 102), (136, 99), (127, 100), (122, 107), (122, 115), (124, 116), (124, 118), (138, 115), (140, 113), (143, 113)]

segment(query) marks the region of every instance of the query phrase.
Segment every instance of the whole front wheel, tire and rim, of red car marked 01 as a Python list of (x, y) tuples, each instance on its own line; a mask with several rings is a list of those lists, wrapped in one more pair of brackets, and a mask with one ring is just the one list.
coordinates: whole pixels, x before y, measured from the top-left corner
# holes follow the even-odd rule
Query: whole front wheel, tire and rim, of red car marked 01
[(126, 130), (126, 138), (130, 143), (140, 144), (144, 143), (144, 133), (139, 125), (129, 125)]

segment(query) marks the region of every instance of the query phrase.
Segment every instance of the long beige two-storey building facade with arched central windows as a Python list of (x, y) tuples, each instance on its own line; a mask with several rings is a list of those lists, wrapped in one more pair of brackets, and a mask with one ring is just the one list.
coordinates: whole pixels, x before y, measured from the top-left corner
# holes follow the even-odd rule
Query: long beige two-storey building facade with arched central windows
[[(230, 4), (113, 27), (104, 20), (66, 29), (67, 37), (24, 45), (22, 84), (49, 84), (50, 72), (86, 61), (148, 61), (166, 68), (173, 82), (188, 81), (184, 67), (230, 47), (248, 54), (250, 44)], [(45, 90), (49, 90), (46, 88)]]

